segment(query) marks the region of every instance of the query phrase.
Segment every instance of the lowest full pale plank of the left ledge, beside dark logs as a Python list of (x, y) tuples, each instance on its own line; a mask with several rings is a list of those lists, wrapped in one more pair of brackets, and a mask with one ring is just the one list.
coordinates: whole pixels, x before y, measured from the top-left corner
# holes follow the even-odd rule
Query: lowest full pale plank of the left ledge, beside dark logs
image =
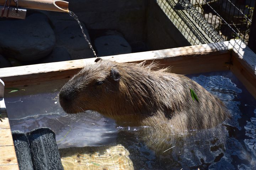
[(14, 146), (2, 146), (0, 147), (0, 153), (0, 166), (18, 164)]

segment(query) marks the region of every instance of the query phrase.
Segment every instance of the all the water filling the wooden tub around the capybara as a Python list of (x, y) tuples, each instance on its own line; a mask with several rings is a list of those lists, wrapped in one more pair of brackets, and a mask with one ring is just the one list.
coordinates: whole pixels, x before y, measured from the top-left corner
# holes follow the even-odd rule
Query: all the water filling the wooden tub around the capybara
[(177, 137), (150, 127), (122, 127), (91, 111), (69, 116), (59, 106), (58, 91), (65, 82), (58, 81), (18, 87), (23, 90), (15, 93), (6, 89), (5, 101), (12, 130), (53, 129), (65, 164), (106, 168), (102, 161), (117, 167), (121, 161), (124, 167), (132, 162), (134, 169), (256, 169), (256, 100), (229, 71), (188, 77), (218, 96), (232, 119)]

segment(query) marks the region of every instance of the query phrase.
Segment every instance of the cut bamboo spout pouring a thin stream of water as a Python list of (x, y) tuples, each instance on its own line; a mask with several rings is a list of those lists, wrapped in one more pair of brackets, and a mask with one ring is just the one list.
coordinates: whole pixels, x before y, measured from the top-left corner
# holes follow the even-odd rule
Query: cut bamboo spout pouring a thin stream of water
[[(4, 4), (5, 0), (0, 0), (0, 5)], [(18, 7), (57, 12), (69, 12), (68, 4), (62, 0), (18, 0)], [(11, 1), (11, 6), (16, 6), (14, 1)]]

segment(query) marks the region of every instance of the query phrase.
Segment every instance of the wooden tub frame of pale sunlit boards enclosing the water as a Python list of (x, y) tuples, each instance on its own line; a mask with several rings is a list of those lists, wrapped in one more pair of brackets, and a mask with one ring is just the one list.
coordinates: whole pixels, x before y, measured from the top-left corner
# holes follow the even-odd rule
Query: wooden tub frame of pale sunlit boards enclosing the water
[[(117, 62), (154, 60), (159, 62), (162, 67), (171, 66), (171, 72), (178, 74), (230, 70), (256, 98), (256, 54), (241, 40), (102, 58)], [(94, 63), (94, 60), (95, 58), (90, 58), (0, 68), (0, 78), (4, 81), (5, 87), (43, 84), (52, 80), (68, 79), (81, 70), (86, 63)], [(0, 121), (0, 169), (18, 169), (7, 114), (2, 114), (2, 117), (5, 118)]]

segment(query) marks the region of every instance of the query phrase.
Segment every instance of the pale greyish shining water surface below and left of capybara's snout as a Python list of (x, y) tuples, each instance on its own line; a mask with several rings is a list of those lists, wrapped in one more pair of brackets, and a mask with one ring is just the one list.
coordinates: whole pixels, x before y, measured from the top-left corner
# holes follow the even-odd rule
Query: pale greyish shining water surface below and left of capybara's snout
[(112, 119), (89, 110), (68, 115), (59, 105), (58, 92), (5, 100), (12, 131), (49, 127), (56, 133), (59, 148), (102, 146), (116, 138), (117, 128)]

